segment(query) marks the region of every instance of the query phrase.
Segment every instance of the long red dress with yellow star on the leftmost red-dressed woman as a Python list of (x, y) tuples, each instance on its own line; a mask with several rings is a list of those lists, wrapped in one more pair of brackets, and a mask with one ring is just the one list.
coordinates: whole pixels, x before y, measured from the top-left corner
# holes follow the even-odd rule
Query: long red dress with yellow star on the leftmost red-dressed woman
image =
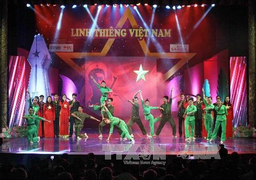
[(46, 122), (44, 124), (44, 131), (45, 131), (45, 137), (46, 138), (54, 138), (54, 128), (53, 128), (53, 122), (55, 120), (55, 108), (54, 105), (48, 105), (46, 107), (46, 104), (44, 105), (44, 118), (48, 121), (51, 121), (51, 123)]

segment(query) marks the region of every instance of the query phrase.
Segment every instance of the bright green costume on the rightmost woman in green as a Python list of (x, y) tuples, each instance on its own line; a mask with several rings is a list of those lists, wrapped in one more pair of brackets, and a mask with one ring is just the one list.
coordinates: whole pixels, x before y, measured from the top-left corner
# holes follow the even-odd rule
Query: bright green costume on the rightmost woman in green
[(215, 110), (217, 112), (217, 117), (214, 132), (212, 132), (211, 139), (215, 140), (217, 138), (217, 133), (221, 125), (221, 141), (224, 142), (226, 140), (227, 107), (225, 105), (221, 105), (220, 108), (219, 106), (215, 106)]

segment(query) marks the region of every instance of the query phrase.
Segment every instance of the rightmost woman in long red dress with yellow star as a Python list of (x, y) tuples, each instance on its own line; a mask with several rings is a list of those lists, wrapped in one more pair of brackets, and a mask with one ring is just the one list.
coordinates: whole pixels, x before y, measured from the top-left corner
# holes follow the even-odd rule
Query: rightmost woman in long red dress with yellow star
[(223, 105), (227, 108), (227, 126), (226, 126), (226, 138), (232, 138), (233, 137), (233, 126), (232, 126), (232, 120), (233, 120), (233, 106), (230, 103), (230, 97), (226, 96), (225, 101)]

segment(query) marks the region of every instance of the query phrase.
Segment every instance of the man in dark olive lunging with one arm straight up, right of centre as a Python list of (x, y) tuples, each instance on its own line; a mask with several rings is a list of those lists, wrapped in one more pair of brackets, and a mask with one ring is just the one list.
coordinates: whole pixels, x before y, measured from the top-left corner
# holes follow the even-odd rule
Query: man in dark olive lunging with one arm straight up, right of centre
[[(172, 90), (170, 91), (170, 99), (168, 102), (168, 96), (163, 97), (163, 104), (160, 106), (163, 108), (163, 110), (160, 110), (162, 115), (160, 116), (160, 124), (157, 128), (156, 135), (159, 136), (161, 130), (163, 129), (164, 124), (168, 121), (170, 123), (170, 126), (172, 126), (173, 129), (173, 137), (177, 138), (176, 136), (176, 124), (172, 118), (171, 114), (171, 107), (172, 107), (172, 101), (173, 101), (173, 87)], [(158, 120), (156, 120), (158, 121)]]

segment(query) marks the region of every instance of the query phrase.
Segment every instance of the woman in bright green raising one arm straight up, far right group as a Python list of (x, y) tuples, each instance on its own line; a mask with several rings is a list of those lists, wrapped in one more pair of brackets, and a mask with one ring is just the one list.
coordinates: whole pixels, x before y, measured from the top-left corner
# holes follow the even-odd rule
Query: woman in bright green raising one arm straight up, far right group
[(212, 130), (212, 123), (214, 119), (212, 118), (211, 111), (214, 109), (214, 105), (211, 103), (212, 98), (208, 97), (207, 100), (204, 94), (204, 88), (202, 89), (203, 92), (203, 100), (204, 100), (204, 127), (207, 131), (206, 140), (209, 141), (211, 138), (211, 130)]

